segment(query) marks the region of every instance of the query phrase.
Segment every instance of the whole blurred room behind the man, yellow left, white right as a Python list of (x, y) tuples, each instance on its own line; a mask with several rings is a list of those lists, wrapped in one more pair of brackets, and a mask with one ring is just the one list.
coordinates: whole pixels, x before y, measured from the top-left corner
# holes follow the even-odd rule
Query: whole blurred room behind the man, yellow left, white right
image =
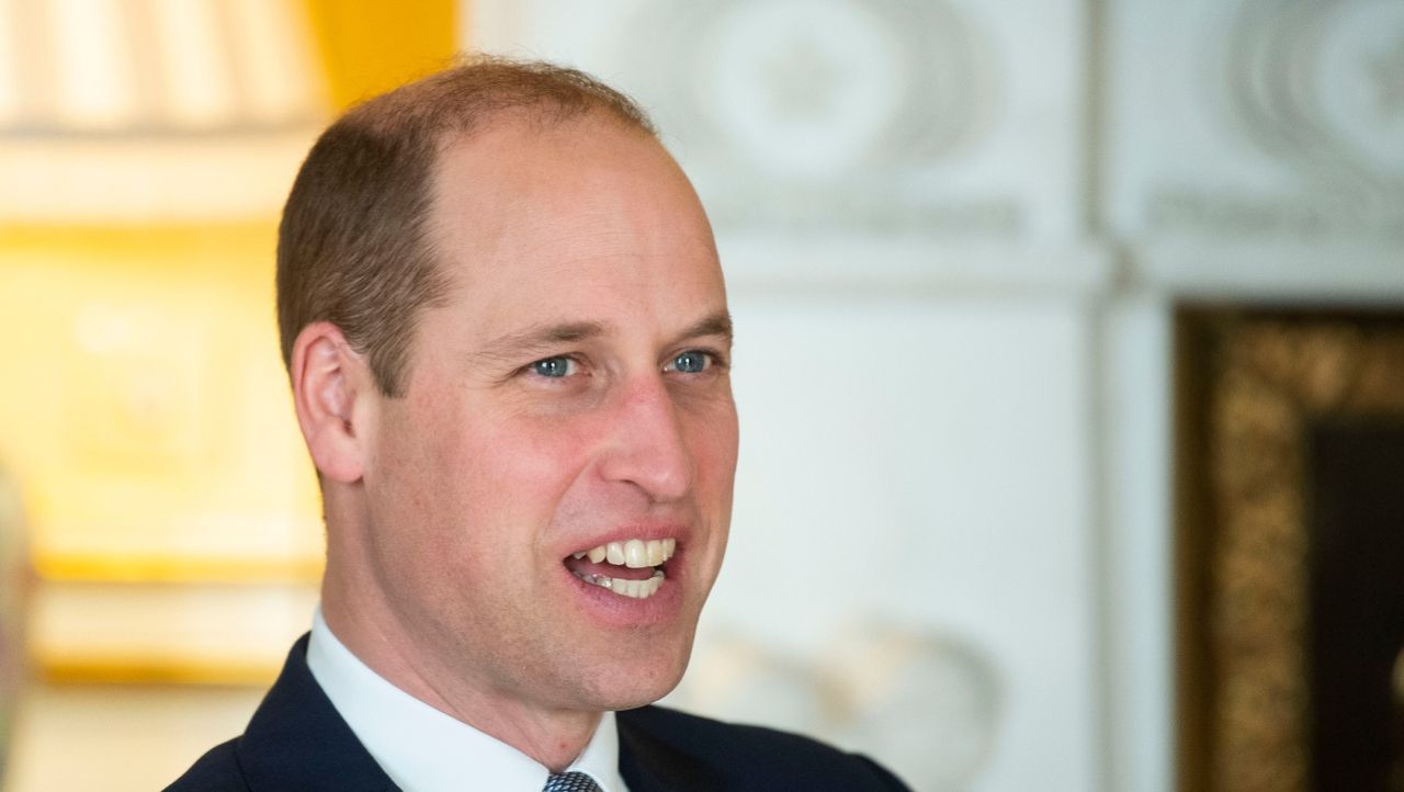
[(282, 198), (484, 49), (716, 225), (733, 541), (670, 702), (921, 791), (1404, 791), (1397, 0), (0, 0), (0, 784), (156, 789), (310, 623)]

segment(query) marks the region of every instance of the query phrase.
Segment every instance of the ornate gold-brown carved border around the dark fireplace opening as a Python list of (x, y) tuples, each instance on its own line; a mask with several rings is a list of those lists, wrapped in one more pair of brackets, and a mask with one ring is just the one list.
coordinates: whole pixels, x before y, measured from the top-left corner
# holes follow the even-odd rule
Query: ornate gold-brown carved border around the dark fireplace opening
[(1304, 792), (1309, 525), (1306, 428), (1404, 416), (1404, 330), (1241, 320), (1210, 345), (1207, 623), (1213, 789)]

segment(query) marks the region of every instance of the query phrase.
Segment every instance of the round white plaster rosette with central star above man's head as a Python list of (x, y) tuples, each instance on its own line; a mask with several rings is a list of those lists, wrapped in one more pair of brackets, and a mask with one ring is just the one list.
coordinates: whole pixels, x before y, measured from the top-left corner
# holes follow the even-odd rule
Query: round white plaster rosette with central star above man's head
[(775, 177), (941, 159), (991, 98), (988, 53), (941, 0), (665, 0), (633, 24), (664, 128)]

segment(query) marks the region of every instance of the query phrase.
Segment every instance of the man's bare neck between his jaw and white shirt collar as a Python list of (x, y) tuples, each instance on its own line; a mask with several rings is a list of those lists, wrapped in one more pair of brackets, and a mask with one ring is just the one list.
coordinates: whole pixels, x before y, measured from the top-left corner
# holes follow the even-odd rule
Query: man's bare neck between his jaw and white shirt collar
[(382, 678), (424, 704), (505, 743), (552, 772), (566, 770), (585, 750), (601, 712), (532, 706), (497, 692), (479, 680), (434, 661), (418, 652), (406, 631), (385, 628), (399, 622), (383, 602), (347, 597), (348, 591), (373, 590), (365, 581), (341, 586), (331, 574), (322, 584), (322, 615), (331, 633), (358, 660)]

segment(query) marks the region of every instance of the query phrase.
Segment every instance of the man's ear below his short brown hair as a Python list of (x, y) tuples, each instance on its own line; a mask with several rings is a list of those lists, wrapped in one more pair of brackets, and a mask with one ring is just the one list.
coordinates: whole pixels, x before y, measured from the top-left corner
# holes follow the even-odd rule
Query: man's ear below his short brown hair
[(378, 393), (369, 361), (351, 348), (340, 327), (313, 322), (298, 333), (292, 402), (312, 462), (327, 479), (361, 480)]

